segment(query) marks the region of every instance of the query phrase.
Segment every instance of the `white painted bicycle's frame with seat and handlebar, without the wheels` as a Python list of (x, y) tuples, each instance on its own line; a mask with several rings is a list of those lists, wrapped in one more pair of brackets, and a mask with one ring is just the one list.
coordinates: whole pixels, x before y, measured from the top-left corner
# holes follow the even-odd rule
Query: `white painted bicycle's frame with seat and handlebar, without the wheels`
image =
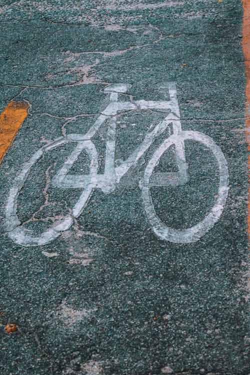
[[(86, 189), (86, 194), (80, 197), (76, 206), (73, 209), (73, 215), (76, 217), (80, 214), (83, 205), (86, 202), (85, 196), (89, 195), (89, 188), (100, 188), (103, 192), (108, 193), (115, 189), (119, 183), (120, 178), (128, 171), (130, 167), (136, 164), (139, 158), (147, 151), (152, 142), (167, 128), (169, 136), (171, 135), (169, 124), (172, 124), (172, 135), (176, 136), (175, 141), (175, 156), (178, 165), (178, 172), (176, 173), (154, 173), (151, 186), (154, 185), (172, 185), (187, 181), (187, 168), (185, 163), (184, 142), (178, 137), (181, 133), (181, 123), (179, 115), (179, 107), (176, 96), (176, 88), (174, 83), (161, 85), (159, 88), (169, 94), (167, 101), (145, 101), (135, 100), (118, 101), (118, 93), (124, 93), (128, 85), (111, 85), (104, 89), (105, 92), (110, 92), (109, 104), (104, 111), (99, 115), (94, 124), (85, 134), (69, 134), (68, 139), (77, 141), (77, 145), (71, 152), (67, 160), (64, 162), (62, 168), (52, 178), (51, 183), (54, 187), (62, 188), (83, 188)], [(150, 132), (148, 132), (131, 155), (124, 160), (119, 166), (114, 166), (115, 154), (115, 135), (116, 135), (116, 114), (122, 111), (131, 111), (136, 109), (144, 110), (158, 110), (169, 111), (166, 117), (161, 120)], [(91, 138), (96, 131), (108, 120), (106, 151), (105, 151), (105, 166), (104, 173), (97, 174), (97, 151)], [(72, 164), (77, 160), (80, 152), (85, 149), (92, 160), (90, 169), (93, 169), (89, 174), (69, 175), (68, 171)], [(170, 177), (170, 178), (169, 178)]]

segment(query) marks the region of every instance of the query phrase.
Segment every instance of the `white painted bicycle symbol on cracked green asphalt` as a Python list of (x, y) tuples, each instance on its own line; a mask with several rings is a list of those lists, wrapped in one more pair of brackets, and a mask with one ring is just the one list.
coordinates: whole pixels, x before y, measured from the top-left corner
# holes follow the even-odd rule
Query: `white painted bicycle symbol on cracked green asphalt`
[[(201, 132), (191, 130), (184, 131), (181, 129), (179, 106), (174, 83), (162, 84), (159, 87), (161, 92), (163, 91), (168, 95), (169, 99), (166, 101), (119, 101), (118, 95), (126, 92), (129, 87), (130, 85), (128, 84), (112, 84), (107, 86), (104, 91), (109, 94), (109, 104), (85, 134), (69, 134), (65, 137), (57, 138), (51, 143), (41, 147), (27, 162), (23, 164), (20, 173), (17, 175), (12, 187), (10, 188), (5, 209), (6, 226), (8, 234), (13, 241), (23, 246), (37, 246), (47, 244), (58, 237), (62, 231), (67, 230), (72, 225), (73, 218), (77, 218), (81, 214), (83, 208), (89, 201), (93, 189), (99, 188), (104, 193), (114, 191), (119, 184), (121, 177), (132, 166), (136, 165), (138, 160), (148, 150), (154, 140), (167, 129), (169, 130), (169, 136), (155, 149), (145, 167), (144, 175), (139, 182), (142, 204), (152, 230), (163, 240), (175, 243), (188, 243), (197, 241), (203, 234), (211, 229), (214, 223), (219, 219), (228, 194), (227, 162), (220, 147), (217, 146), (209, 136)], [(159, 121), (151, 131), (146, 133), (144, 140), (126, 160), (122, 161), (120, 165), (115, 166), (116, 114), (121, 111), (131, 111), (136, 109), (158, 110), (165, 113), (167, 112), (167, 115), (163, 120)], [(98, 154), (91, 138), (105, 121), (108, 123), (105, 167), (104, 173), (100, 174), (97, 173)], [(202, 143), (213, 154), (219, 169), (218, 192), (213, 207), (209, 213), (205, 215), (203, 220), (191, 227), (176, 229), (167, 226), (157, 216), (150, 188), (153, 186), (178, 186), (187, 182), (188, 167), (185, 160), (185, 141), (190, 139)], [(23, 187), (31, 168), (42, 157), (42, 155), (66, 143), (75, 143), (75, 147), (63, 162), (62, 167), (51, 178), (51, 184), (54, 188), (60, 189), (80, 188), (82, 192), (73, 206), (70, 215), (66, 215), (63, 219), (53, 223), (42, 233), (36, 234), (33, 230), (25, 228), (18, 219), (18, 194)], [(154, 171), (159, 163), (160, 157), (170, 146), (174, 146), (178, 171), (172, 173)], [(83, 150), (87, 153), (90, 160), (89, 173), (70, 175), (70, 168)]]

